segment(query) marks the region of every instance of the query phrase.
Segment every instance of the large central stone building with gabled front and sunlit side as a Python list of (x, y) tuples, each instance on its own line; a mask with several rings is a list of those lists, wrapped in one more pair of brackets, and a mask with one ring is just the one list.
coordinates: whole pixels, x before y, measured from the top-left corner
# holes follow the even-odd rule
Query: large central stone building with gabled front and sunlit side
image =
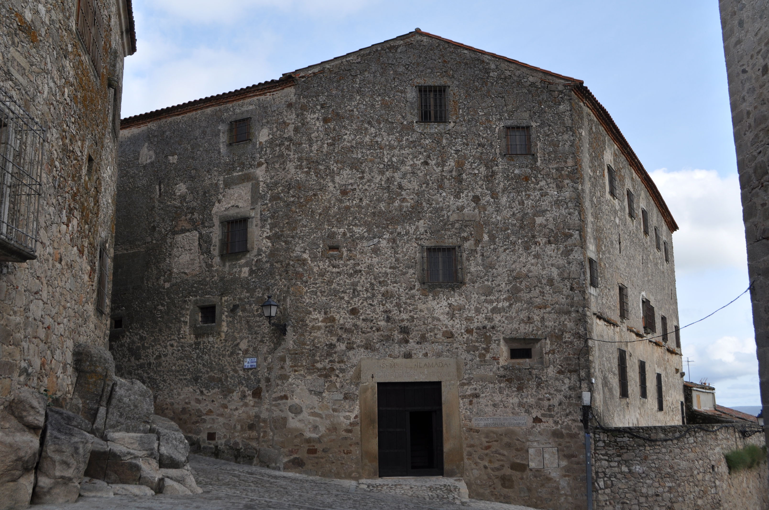
[(581, 392), (681, 423), (677, 226), (580, 80), (416, 30), (119, 150), (110, 349), (201, 452), (585, 508)]

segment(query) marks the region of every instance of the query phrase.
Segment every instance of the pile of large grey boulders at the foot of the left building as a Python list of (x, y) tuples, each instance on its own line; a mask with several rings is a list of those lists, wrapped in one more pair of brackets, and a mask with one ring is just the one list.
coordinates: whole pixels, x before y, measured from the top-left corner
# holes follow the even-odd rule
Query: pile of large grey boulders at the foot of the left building
[(185, 436), (153, 414), (150, 389), (115, 376), (101, 347), (76, 346), (72, 363), (78, 376), (67, 409), (32, 389), (0, 402), (0, 510), (78, 496), (202, 492)]

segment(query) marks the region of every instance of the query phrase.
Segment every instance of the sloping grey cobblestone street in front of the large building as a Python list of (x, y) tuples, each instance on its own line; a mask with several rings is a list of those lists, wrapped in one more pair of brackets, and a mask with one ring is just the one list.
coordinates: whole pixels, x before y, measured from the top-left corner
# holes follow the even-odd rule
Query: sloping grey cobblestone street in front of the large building
[(481, 502), (466, 505), (367, 492), (348, 480), (323, 479), (190, 455), (202, 494), (151, 497), (78, 498), (67, 505), (33, 505), (35, 510), (532, 510)]

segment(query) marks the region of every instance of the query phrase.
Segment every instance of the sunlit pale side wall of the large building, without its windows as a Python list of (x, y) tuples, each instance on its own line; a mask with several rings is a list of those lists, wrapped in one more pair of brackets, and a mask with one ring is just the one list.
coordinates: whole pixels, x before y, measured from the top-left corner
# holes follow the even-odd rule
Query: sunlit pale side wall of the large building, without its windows
[[(590, 375), (595, 384), (594, 412), (604, 426), (677, 425), (683, 399), (681, 349), (676, 346), (678, 324), (675, 266), (671, 229), (638, 174), (612, 141), (598, 119), (581, 103), (575, 104), (584, 188), (586, 257), (598, 262), (598, 287), (587, 286), (591, 318)], [(616, 175), (616, 197), (609, 192), (608, 165)], [(635, 218), (628, 213), (628, 194), (634, 195)], [(641, 209), (647, 211), (648, 230)], [(654, 227), (661, 237), (657, 250)], [(667, 243), (667, 262), (664, 244)], [(585, 262), (587, 264), (587, 260)], [(619, 285), (628, 289), (628, 318), (619, 310)], [(641, 298), (655, 307), (656, 333), (644, 333)], [(667, 317), (667, 339), (661, 337), (661, 316)], [(608, 343), (613, 342), (613, 343)], [(628, 398), (620, 397), (618, 349), (627, 351)], [(641, 398), (639, 361), (646, 362), (647, 397)], [(662, 374), (663, 411), (657, 408), (656, 374)]]

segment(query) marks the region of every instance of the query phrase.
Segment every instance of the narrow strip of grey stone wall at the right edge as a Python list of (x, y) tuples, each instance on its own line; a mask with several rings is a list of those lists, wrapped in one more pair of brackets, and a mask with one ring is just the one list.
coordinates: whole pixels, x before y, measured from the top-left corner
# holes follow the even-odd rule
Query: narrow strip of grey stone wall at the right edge
[(769, 409), (769, 2), (721, 0), (761, 402)]

